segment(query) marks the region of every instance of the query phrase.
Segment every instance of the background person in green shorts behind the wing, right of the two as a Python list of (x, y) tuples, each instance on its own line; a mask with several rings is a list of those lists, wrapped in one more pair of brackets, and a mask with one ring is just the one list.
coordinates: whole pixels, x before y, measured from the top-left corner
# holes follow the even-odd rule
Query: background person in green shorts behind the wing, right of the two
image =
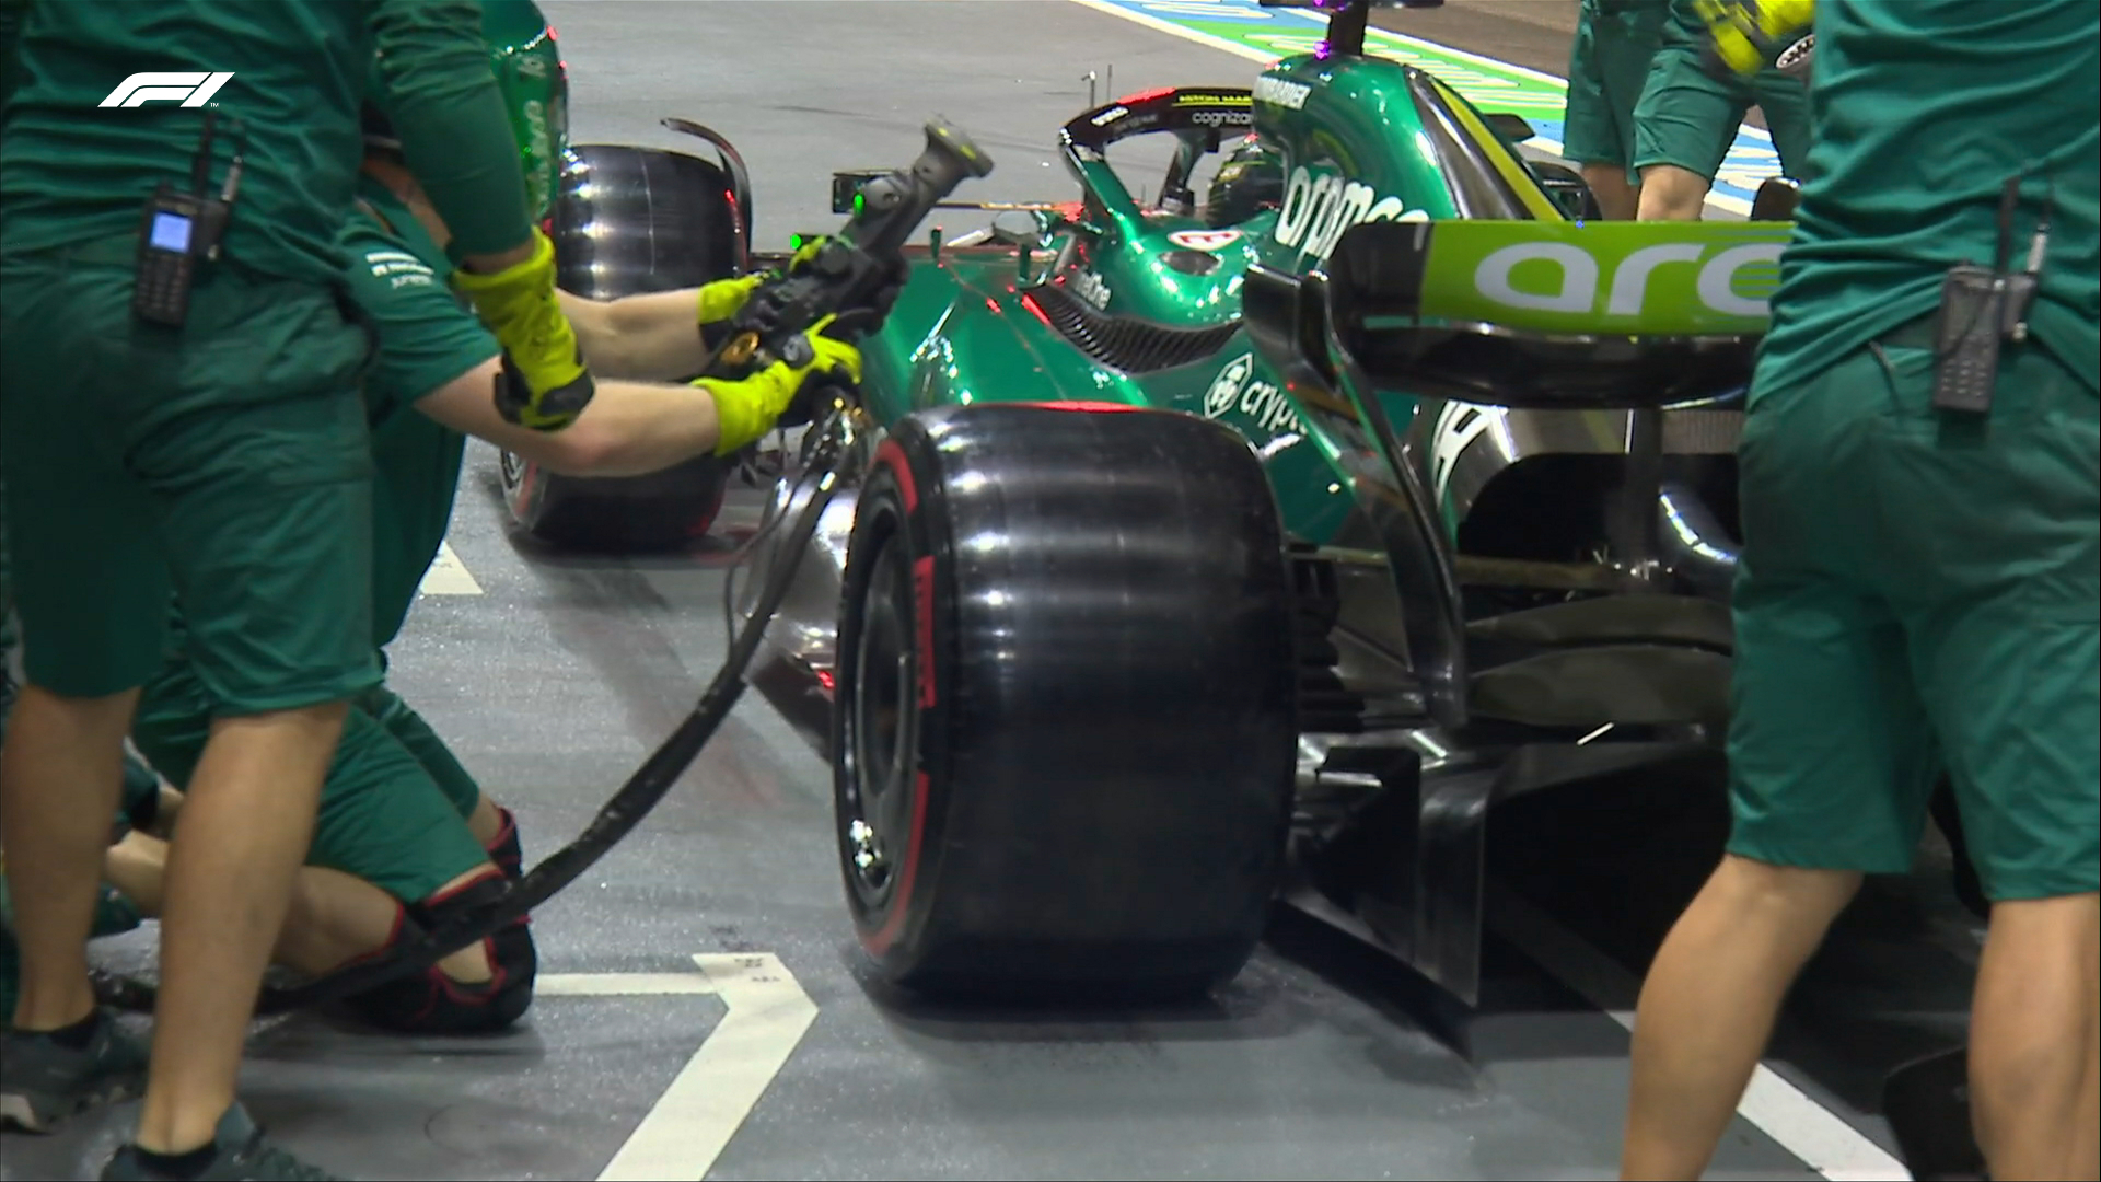
[(1712, 2), (1670, 0), (1662, 46), (1635, 103), (1632, 166), (1643, 221), (1700, 221), (1714, 175), (1752, 105), (1765, 114), (1780, 172), (1801, 179), (1809, 162), (1805, 82), (1771, 63), (1748, 78), (1719, 69), (1702, 15)]

